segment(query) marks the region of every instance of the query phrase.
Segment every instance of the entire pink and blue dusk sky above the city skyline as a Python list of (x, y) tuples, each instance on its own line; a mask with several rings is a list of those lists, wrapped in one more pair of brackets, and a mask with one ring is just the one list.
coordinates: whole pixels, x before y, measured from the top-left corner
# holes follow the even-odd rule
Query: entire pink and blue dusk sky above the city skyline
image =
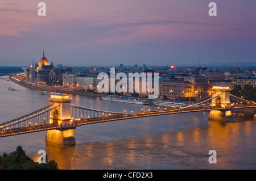
[[(39, 2), (46, 16), (39, 16)], [(217, 16), (209, 16), (210, 2)], [(1, 0), (0, 66), (256, 62), (255, 0)]]

